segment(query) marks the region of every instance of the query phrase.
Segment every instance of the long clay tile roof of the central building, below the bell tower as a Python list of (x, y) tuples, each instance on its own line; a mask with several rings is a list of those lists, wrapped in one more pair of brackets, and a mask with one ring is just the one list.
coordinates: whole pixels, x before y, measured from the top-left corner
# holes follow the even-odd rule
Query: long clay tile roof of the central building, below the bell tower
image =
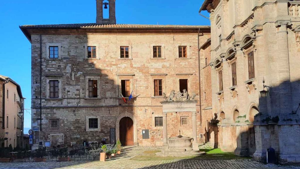
[(210, 29), (210, 26), (191, 26), (191, 25), (140, 25), (140, 24), (109, 24), (101, 25), (97, 23), (77, 23), (77, 24), (57, 24), (57, 25), (23, 25), (20, 28), (27, 29), (103, 29), (103, 28), (196, 28)]

